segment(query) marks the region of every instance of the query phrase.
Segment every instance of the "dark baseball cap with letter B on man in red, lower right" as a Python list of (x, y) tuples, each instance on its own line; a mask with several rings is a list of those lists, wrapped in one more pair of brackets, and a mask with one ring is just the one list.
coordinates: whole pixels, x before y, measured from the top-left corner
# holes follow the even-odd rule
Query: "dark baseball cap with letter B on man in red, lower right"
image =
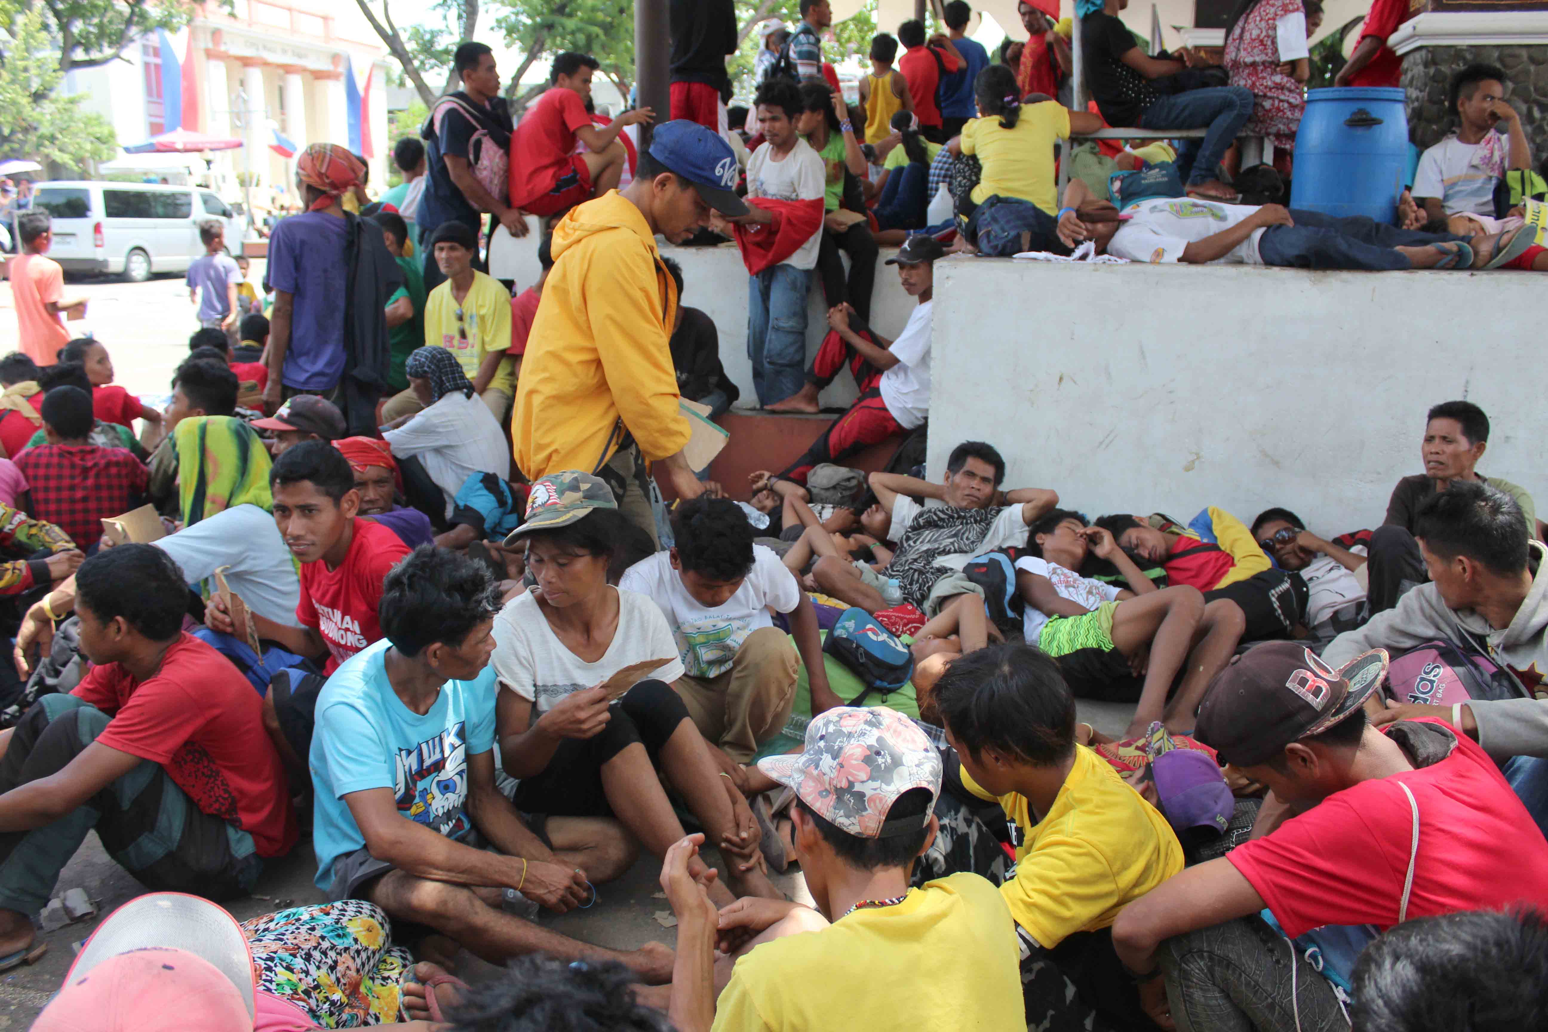
[(1385, 679), (1385, 648), (1333, 668), (1297, 642), (1265, 642), (1215, 675), (1194, 736), (1218, 752), (1220, 763), (1251, 767), (1333, 727)]

